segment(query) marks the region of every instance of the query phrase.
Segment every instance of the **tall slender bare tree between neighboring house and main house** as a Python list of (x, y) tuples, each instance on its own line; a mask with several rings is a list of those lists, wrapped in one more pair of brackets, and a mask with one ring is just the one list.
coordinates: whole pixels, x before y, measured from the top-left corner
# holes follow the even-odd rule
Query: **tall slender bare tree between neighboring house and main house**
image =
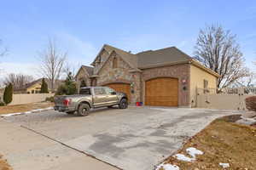
[(52, 91), (55, 89), (55, 82), (59, 80), (63, 72), (63, 65), (67, 59), (67, 52), (62, 53), (56, 47), (55, 41), (49, 39), (47, 48), (38, 54), (40, 65), (38, 71), (43, 77), (49, 80)]

